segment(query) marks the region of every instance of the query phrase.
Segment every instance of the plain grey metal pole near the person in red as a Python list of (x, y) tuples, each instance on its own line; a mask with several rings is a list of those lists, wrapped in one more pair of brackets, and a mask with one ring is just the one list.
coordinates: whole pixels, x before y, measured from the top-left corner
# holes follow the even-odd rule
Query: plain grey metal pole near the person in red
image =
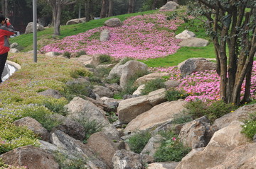
[(33, 0), (33, 60), (37, 62), (37, 10), (36, 0)]

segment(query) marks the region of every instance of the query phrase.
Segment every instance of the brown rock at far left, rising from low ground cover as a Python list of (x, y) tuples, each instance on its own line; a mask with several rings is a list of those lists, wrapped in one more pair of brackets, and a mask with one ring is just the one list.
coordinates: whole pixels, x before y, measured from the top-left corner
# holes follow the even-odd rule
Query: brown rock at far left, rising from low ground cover
[(20, 120), (14, 121), (14, 124), (16, 126), (28, 127), (28, 129), (31, 129), (35, 134), (38, 134), (41, 139), (49, 141), (50, 134), (47, 129), (31, 117), (23, 117)]

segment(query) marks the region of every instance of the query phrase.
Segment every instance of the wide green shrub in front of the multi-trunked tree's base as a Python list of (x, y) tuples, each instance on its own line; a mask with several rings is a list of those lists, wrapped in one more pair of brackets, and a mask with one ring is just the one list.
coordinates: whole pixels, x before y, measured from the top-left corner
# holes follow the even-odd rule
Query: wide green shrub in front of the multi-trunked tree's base
[(213, 101), (210, 104), (202, 100), (195, 100), (187, 103), (185, 107), (188, 110), (188, 114), (193, 118), (196, 119), (206, 115), (211, 122), (237, 109), (235, 105), (224, 103), (223, 100)]

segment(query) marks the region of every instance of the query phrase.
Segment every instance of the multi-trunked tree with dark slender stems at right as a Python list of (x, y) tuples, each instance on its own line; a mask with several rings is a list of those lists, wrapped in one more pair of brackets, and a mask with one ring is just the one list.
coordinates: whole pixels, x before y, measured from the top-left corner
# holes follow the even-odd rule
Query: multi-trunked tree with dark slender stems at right
[(242, 102), (247, 102), (256, 52), (256, 1), (196, 0), (191, 3), (193, 11), (206, 17), (208, 33), (214, 42), (220, 97), (226, 103), (238, 105), (245, 80)]

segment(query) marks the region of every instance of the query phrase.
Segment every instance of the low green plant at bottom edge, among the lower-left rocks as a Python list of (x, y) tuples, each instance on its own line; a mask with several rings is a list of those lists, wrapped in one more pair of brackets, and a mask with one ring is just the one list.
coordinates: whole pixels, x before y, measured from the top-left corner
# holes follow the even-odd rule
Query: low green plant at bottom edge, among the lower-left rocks
[(86, 161), (80, 157), (70, 159), (63, 153), (53, 153), (55, 161), (60, 165), (61, 169), (87, 169)]

